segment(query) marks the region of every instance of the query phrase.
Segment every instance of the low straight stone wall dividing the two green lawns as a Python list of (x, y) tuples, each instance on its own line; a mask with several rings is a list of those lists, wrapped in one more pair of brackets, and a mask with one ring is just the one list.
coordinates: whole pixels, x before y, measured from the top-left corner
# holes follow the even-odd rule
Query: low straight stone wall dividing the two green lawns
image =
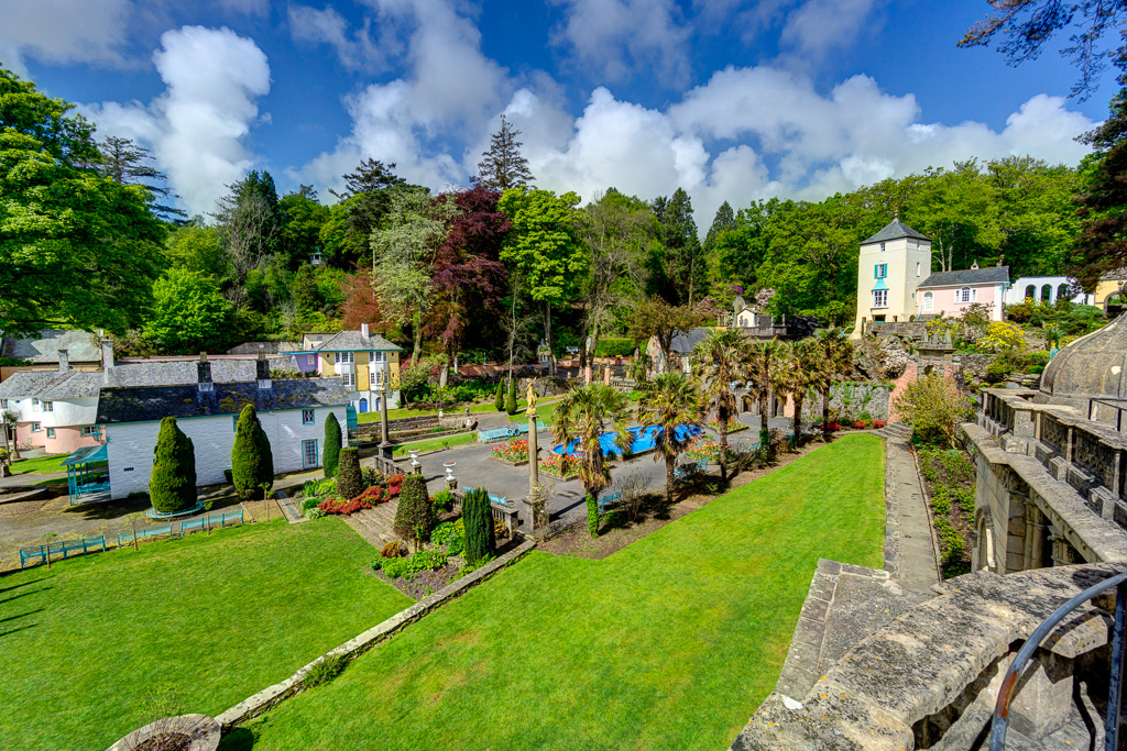
[(273, 709), (282, 701), (285, 701), (286, 699), (305, 690), (305, 674), (317, 663), (337, 656), (343, 656), (347, 662), (352, 662), (380, 642), (394, 636), (407, 626), (437, 609), (445, 604), (446, 600), (452, 600), (461, 596), (467, 590), (480, 584), (502, 569), (516, 563), (518, 560), (524, 557), (525, 553), (535, 546), (535, 539), (525, 539), (515, 549), (509, 551), (496, 561), (492, 561), (477, 571), (462, 576), (458, 581), (451, 582), (434, 594), (423, 598), (415, 605), (405, 610), (400, 610), (383, 623), (369, 628), (358, 636), (348, 640), (340, 646), (329, 650), (321, 656), (310, 662), (308, 665), (299, 669), (295, 673), (282, 682), (264, 688), (257, 694), (254, 694), (234, 705), (230, 709), (216, 715), (215, 721), (223, 726), (224, 731), (227, 731), (228, 728), (241, 725), (242, 723), (254, 719), (258, 715)]

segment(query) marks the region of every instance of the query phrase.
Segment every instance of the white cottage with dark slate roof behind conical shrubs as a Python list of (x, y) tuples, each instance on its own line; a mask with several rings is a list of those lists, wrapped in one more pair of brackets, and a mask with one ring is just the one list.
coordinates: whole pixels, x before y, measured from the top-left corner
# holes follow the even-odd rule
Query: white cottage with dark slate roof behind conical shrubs
[(197, 485), (225, 481), (239, 412), (247, 404), (255, 405), (269, 438), (275, 474), (321, 465), (330, 413), (345, 432), (348, 397), (338, 378), (272, 381), (267, 361), (258, 360), (256, 381), (214, 383), (206, 357), (196, 367), (194, 384), (101, 390), (97, 422), (106, 438), (112, 498), (148, 491), (160, 421), (166, 417), (176, 418), (192, 439)]

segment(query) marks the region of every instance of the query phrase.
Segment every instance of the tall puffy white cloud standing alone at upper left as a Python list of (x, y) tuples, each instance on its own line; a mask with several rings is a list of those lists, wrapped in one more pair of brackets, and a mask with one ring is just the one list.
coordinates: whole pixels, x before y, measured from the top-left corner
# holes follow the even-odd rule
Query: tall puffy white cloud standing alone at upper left
[(153, 63), (166, 90), (150, 105), (105, 102), (85, 108), (106, 134), (153, 150), (169, 185), (193, 214), (211, 211), (254, 164), (243, 144), (270, 88), (266, 55), (228, 28), (166, 32)]

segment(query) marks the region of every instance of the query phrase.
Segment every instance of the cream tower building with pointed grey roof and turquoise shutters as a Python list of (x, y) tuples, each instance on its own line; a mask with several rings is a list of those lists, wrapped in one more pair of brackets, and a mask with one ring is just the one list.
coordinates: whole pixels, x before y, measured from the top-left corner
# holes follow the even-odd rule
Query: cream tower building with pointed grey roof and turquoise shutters
[(857, 324), (860, 339), (867, 322), (915, 320), (916, 288), (931, 276), (931, 239), (899, 217), (861, 243), (857, 274)]

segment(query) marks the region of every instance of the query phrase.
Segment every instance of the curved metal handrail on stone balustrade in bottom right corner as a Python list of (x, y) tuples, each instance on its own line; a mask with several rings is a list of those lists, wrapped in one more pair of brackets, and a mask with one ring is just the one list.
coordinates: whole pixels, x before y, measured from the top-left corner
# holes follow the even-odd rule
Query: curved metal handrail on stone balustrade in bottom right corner
[(1002, 688), (997, 692), (997, 704), (994, 706), (994, 722), (991, 728), (991, 751), (1003, 751), (1005, 749), (1005, 733), (1010, 727), (1010, 701), (1013, 699), (1018, 677), (1030, 658), (1033, 656), (1033, 652), (1041, 645), (1045, 637), (1064, 620), (1065, 616), (1112, 587), (1116, 588), (1116, 616), (1115, 626), (1111, 632), (1111, 670), (1108, 686), (1108, 714), (1103, 733), (1103, 748), (1106, 751), (1118, 750), (1119, 701), (1122, 694), (1124, 678), (1124, 617), (1125, 611), (1127, 611), (1127, 573), (1111, 576), (1094, 587), (1089, 587), (1057, 608), (1026, 640), (1026, 643), (1018, 651), (1018, 656), (1010, 664), (1010, 669), (1005, 671), (1005, 679), (1002, 681)]

